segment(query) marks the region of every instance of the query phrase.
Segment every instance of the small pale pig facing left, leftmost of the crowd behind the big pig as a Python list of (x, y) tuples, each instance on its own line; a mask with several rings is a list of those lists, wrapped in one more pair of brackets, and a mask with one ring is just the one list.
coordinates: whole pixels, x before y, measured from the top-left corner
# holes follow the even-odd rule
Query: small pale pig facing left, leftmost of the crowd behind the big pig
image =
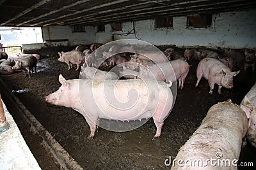
[(68, 70), (70, 67), (72, 68), (72, 64), (76, 64), (77, 69), (79, 69), (79, 66), (84, 63), (84, 53), (72, 50), (70, 52), (58, 52), (60, 55), (60, 58), (58, 60), (60, 62), (65, 62), (68, 65)]

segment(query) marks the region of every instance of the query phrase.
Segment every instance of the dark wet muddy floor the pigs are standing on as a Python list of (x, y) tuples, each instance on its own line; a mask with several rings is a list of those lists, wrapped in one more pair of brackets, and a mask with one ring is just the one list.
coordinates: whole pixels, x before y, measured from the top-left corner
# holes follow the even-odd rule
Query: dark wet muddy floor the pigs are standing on
[[(160, 138), (152, 138), (156, 127), (152, 119), (145, 125), (129, 132), (111, 132), (99, 129), (94, 139), (87, 139), (90, 128), (78, 112), (63, 106), (54, 106), (45, 102), (45, 96), (58, 90), (59, 74), (67, 80), (78, 78), (79, 71), (68, 70), (67, 64), (59, 62), (55, 57), (47, 57), (38, 61), (38, 73), (31, 78), (24, 78), (23, 73), (1, 75), (12, 92), (28, 108), (38, 121), (52, 134), (65, 150), (84, 169), (170, 169), (164, 160), (175, 157), (180, 146), (201, 124), (209, 108), (218, 102), (232, 99), (239, 104), (245, 94), (256, 81), (255, 74), (240, 73), (234, 78), (233, 89), (221, 89), (217, 86), (213, 94), (209, 94), (207, 80), (202, 78), (198, 87), (196, 83), (196, 66), (198, 61), (190, 62), (191, 67), (183, 90), (177, 91), (177, 99), (172, 112), (164, 121)], [(16, 120), (23, 121), (23, 120)], [(20, 131), (23, 131), (20, 127)], [(31, 148), (35, 152), (36, 148)], [(239, 169), (255, 169), (256, 149), (250, 144), (241, 150), (241, 162), (253, 162), (253, 167)], [(45, 156), (36, 157), (43, 169), (47, 169)], [(49, 169), (54, 169), (50, 167)]]

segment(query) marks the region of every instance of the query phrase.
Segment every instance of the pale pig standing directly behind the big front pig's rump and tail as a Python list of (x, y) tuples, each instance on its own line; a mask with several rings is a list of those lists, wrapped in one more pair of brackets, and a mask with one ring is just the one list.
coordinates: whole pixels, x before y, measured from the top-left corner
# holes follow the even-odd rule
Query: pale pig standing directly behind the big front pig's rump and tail
[(165, 81), (166, 83), (179, 80), (178, 88), (183, 89), (189, 67), (188, 62), (178, 59), (152, 64), (148, 66), (148, 69), (140, 66), (140, 71), (125, 69), (120, 72), (120, 76), (124, 76), (124, 78), (154, 78), (159, 81)]

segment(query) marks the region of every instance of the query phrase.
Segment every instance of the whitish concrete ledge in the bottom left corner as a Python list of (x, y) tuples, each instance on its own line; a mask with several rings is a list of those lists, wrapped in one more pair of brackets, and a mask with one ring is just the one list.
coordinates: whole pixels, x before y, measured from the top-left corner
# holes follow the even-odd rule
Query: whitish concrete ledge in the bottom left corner
[(0, 169), (41, 169), (3, 103), (9, 129), (0, 132)]

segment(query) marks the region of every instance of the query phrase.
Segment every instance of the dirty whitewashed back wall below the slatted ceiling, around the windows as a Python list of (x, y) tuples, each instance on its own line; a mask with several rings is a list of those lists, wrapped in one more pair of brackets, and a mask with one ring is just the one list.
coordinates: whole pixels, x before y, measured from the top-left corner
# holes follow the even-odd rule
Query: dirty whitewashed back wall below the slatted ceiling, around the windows
[[(86, 32), (72, 33), (71, 27), (43, 27), (44, 39), (68, 39), (70, 45), (107, 43), (111, 39), (140, 39), (154, 45), (207, 46), (211, 48), (255, 48), (256, 10), (214, 14), (211, 28), (187, 28), (186, 17), (174, 17), (173, 28), (156, 29), (155, 20), (123, 23), (123, 31), (105, 32), (86, 27)], [(135, 33), (134, 30), (135, 29)], [(127, 33), (131, 32), (127, 35)]]

